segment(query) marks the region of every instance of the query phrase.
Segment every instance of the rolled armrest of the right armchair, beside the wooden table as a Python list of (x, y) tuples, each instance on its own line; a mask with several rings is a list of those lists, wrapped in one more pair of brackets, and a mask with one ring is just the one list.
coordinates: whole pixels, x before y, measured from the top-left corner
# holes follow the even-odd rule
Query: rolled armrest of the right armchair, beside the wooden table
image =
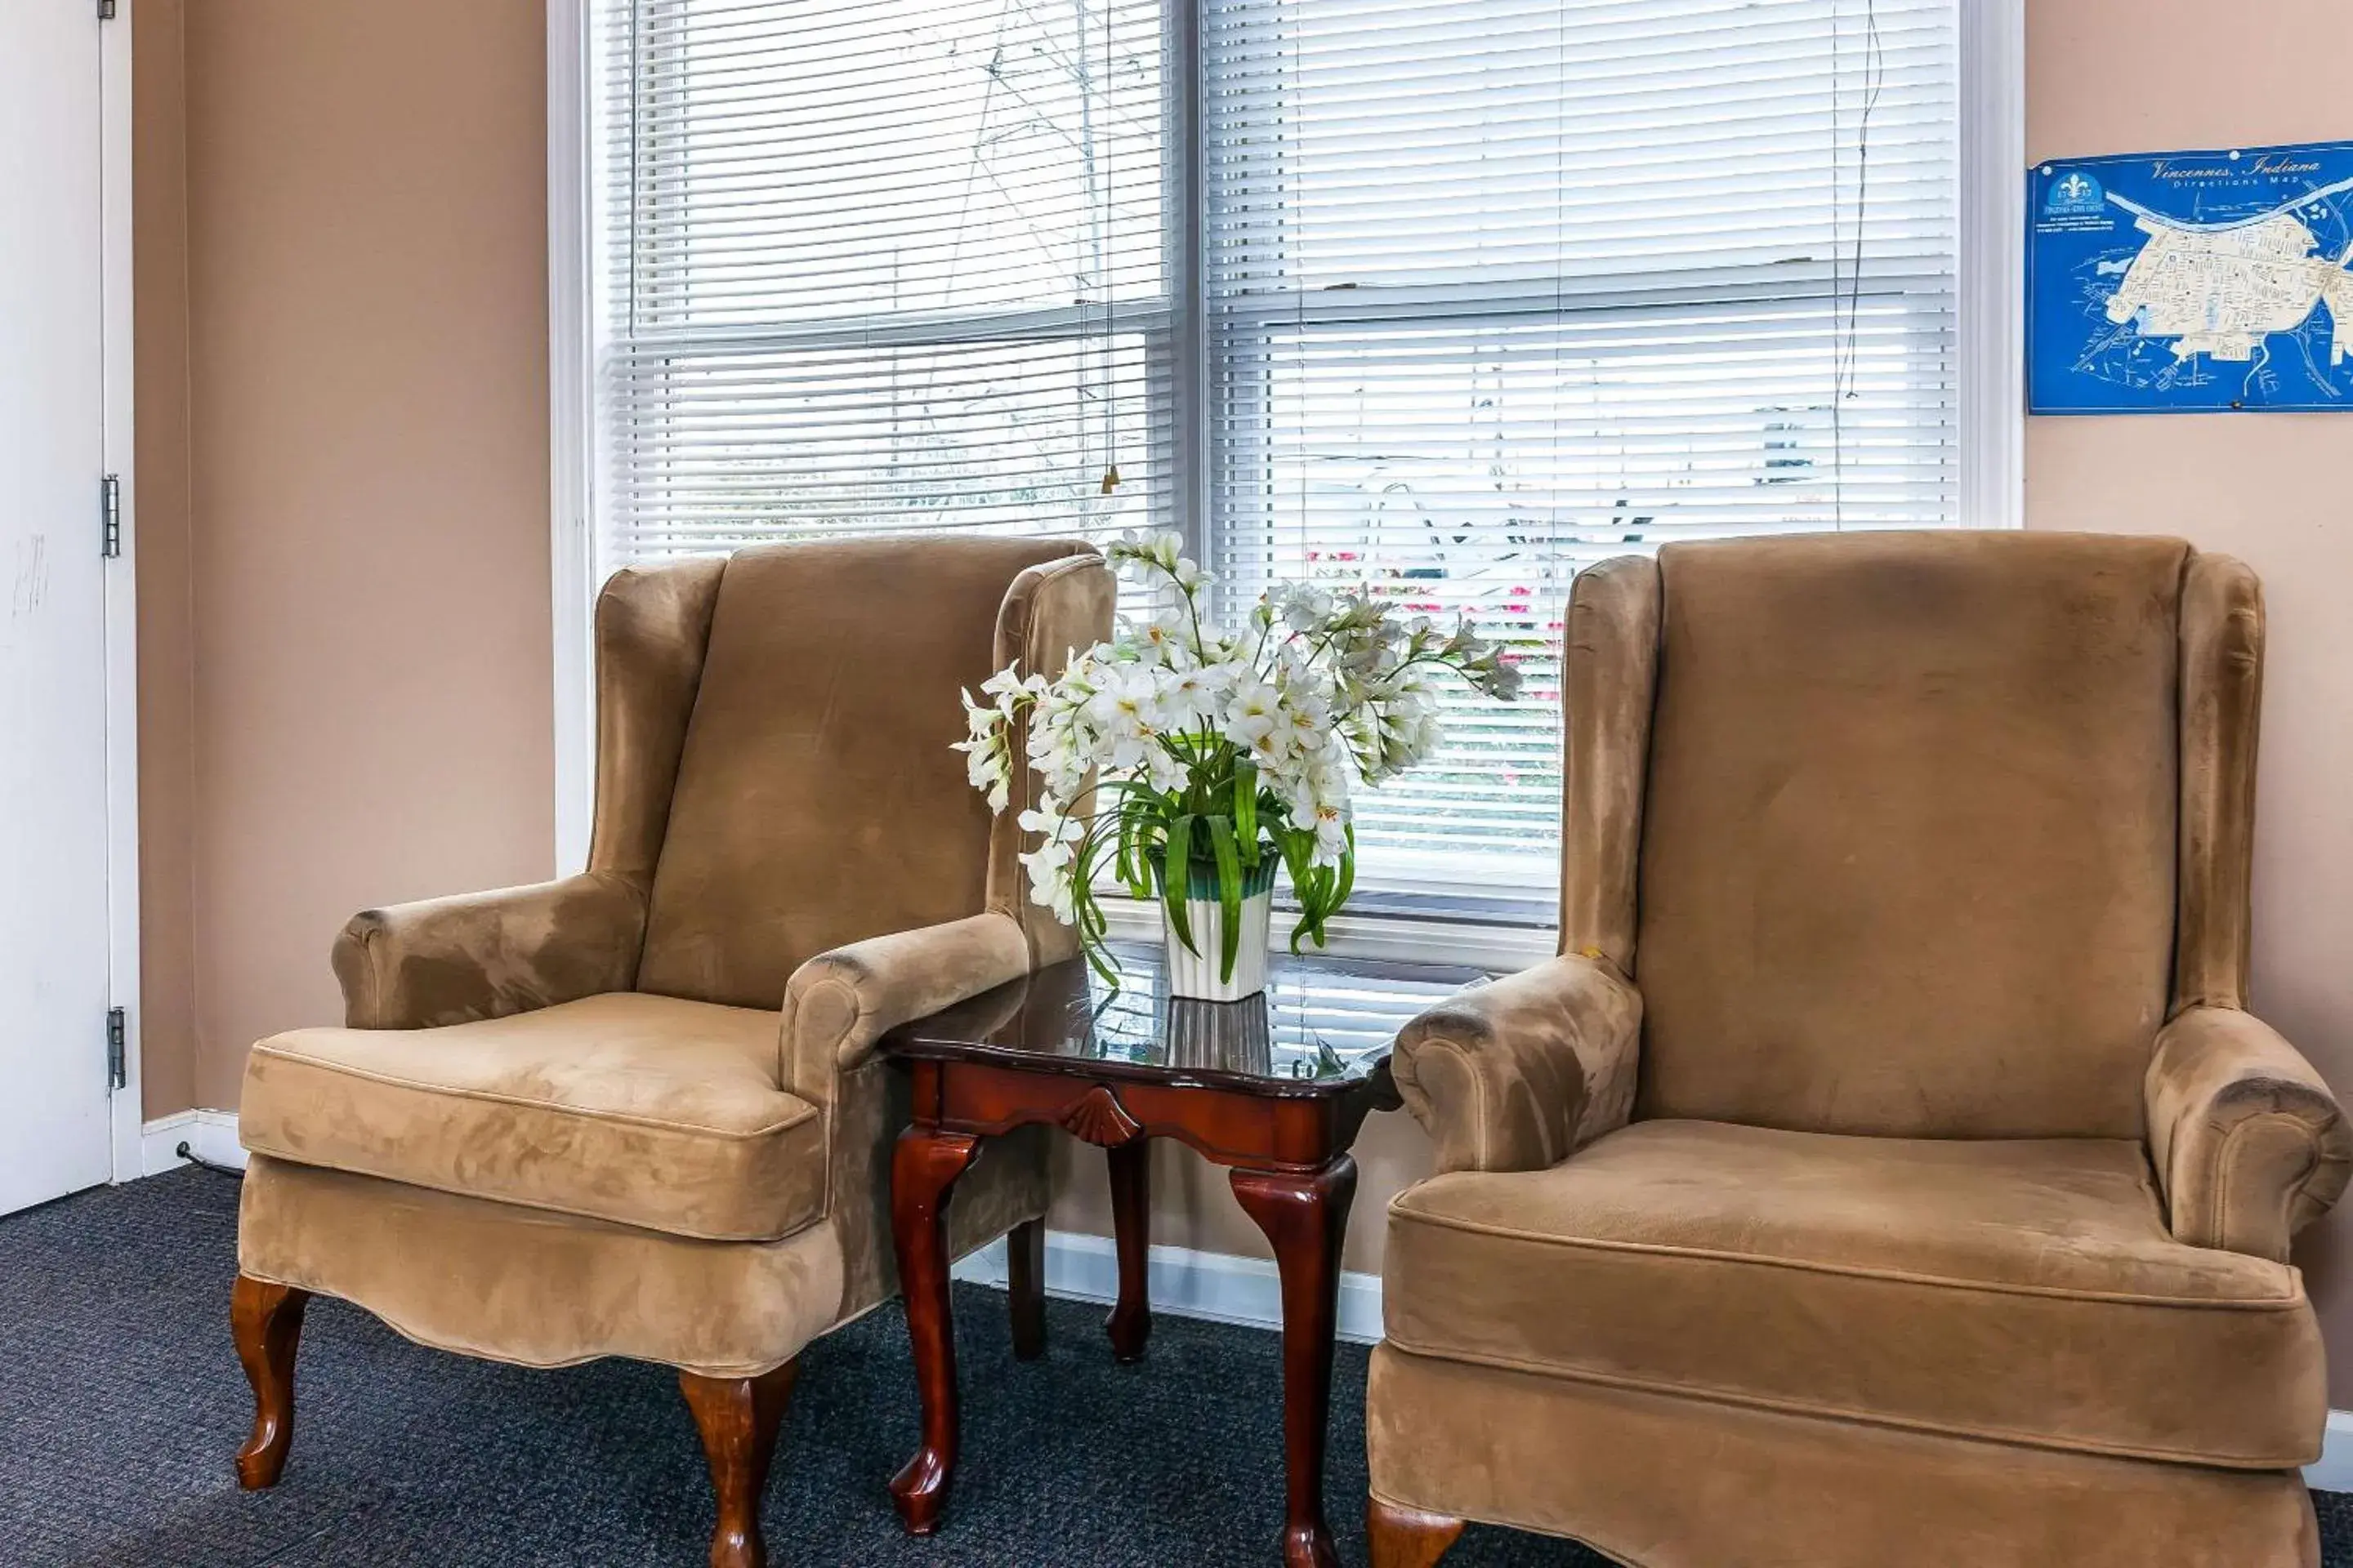
[(1562, 957), (1414, 1018), (1391, 1072), (1440, 1171), (1544, 1171), (1626, 1124), (1640, 1039), (1642, 992)]

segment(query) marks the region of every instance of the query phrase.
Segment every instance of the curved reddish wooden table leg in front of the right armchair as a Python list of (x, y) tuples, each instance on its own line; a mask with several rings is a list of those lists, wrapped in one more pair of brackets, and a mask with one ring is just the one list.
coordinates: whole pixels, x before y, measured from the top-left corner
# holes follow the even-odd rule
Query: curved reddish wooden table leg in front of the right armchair
[(1282, 1272), (1282, 1568), (1339, 1568), (1322, 1509), (1332, 1415), (1332, 1335), (1339, 1328), (1339, 1246), (1355, 1197), (1341, 1154), (1313, 1175), (1235, 1171), (1233, 1197), (1275, 1246)]

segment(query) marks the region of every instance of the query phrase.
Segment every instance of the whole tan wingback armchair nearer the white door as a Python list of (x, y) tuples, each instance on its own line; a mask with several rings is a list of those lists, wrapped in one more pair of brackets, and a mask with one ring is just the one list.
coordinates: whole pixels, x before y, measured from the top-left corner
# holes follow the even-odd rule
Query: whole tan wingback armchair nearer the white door
[[(680, 1368), (711, 1561), (762, 1561), (795, 1356), (896, 1291), (906, 1091), (875, 1037), (1071, 954), (1021, 898), (1012, 816), (948, 750), (958, 689), (1012, 658), (1059, 670), (1111, 602), (1101, 557), (1061, 541), (612, 578), (588, 870), (360, 914), (334, 947), (348, 1027), (252, 1051), (245, 1486), (285, 1465), (301, 1305), (325, 1293), (471, 1356)], [(991, 1152), (955, 1190), (958, 1253), (1045, 1213), (1040, 1150)]]

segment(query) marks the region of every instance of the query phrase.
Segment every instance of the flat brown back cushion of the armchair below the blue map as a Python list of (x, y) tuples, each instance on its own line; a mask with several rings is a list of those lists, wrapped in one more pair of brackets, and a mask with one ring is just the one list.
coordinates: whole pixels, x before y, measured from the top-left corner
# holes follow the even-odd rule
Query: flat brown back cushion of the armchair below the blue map
[(2141, 1135), (2188, 559), (1958, 531), (1661, 550), (1635, 1114)]

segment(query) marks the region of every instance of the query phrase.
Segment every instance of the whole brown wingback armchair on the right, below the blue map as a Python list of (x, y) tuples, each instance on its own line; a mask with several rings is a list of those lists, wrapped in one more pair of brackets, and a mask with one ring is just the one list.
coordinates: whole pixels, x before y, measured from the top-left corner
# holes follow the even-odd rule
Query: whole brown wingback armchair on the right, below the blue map
[(1562, 957), (1417, 1020), (1377, 1568), (2311, 1568), (2247, 1006), (2264, 611), (2179, 541), (1668, 545), (1574, 588)]

